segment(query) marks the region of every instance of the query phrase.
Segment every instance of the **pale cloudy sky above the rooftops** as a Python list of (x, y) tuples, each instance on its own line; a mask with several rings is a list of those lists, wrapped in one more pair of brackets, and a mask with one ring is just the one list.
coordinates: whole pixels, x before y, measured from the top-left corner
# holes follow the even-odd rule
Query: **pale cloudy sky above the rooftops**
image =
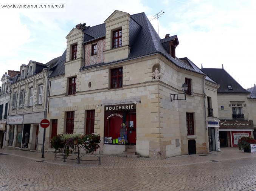
[[(3, 3), (64, 4), (59, 9), (2, 8)], [(0, 75), (29, 60), (46, 63), (66, 49), (65, 37), (78, 23), (101, 24), (115, 9), (149, 20), (161, 10), (159, 35), (177, 35), (179, 58), (224, 69), (244, 88), (256, 83), (256, 0), (0, 0)], [(157, 31), (157, 20), (151, 20)]]

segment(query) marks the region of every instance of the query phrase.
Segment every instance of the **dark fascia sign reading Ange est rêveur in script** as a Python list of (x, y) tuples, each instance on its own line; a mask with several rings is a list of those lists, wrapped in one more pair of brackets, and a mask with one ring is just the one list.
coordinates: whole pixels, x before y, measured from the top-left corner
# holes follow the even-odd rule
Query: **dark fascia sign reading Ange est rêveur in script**
[(220, 129), (253, 129), (253, 121), (220, 121)]

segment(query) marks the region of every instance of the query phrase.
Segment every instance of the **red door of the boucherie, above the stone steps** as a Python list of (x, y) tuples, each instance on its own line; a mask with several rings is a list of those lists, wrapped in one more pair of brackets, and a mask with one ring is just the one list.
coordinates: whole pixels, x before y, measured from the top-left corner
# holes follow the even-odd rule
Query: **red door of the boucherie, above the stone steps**
[(136, 113), (129, 113), (128, 119), (128, 143), (136, 145)]

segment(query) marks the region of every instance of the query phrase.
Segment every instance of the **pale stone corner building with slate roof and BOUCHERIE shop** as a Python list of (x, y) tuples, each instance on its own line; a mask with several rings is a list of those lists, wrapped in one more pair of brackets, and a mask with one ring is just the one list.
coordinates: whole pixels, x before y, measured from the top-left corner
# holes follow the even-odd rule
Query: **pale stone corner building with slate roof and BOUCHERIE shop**
[[(76, 25), (66, 38), (50, 67), (47, 147), (56, 134), (98, 133), (103, 154), (209, 152), (206, 110), (218, 121), (219, 85), (175, 57), (176, 35), (160, 39), (144, 12), (114, 11), (102, 24)], [(186, 100), (171, 102), (183, 83)], [(208, 107), (207, 93), (215, 101)]]

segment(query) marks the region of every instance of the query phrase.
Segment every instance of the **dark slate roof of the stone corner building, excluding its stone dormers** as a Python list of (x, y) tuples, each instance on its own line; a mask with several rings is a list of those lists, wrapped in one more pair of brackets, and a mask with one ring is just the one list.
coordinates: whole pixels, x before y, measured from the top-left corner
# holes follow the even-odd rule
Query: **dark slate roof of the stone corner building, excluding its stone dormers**
[[(84, 32), (84, 43), (88, 43), (90, 41), (105, 37), (106, 36), (105, 23), (98, 24), (96, 26), (87, 27), (83, 29), (83, 32)], [(144, 12), (131, 15), (130, 16), (130, 54), (127, 59), (117, 60), (111, 63), (116, 63), (116, 62), (130, 60), (137, 57), (160, 53), (161, 55), (166, 57), (168, 60), (170, 60), (172, 63), (174, 63), (176, 66), (182, 69), (203, 74), (202, 71), (199, 71), (200, 69), (199, 70), (197, 68), (195, 69), (195, 67), (191, 67), (189, 64), (187, 64), (186, 62), (183, 62), (182, 60), (179, 60), (178, 58), (172, 58), (171, 55), (166, 51), (162, 43), (166, 43), (168, 41), (174, 40), (175, 38), (177, 38), (176, 35), (161, 39)], [(64, 54), (66, 54), (66, 52), (64, 52)], [(65, 60), (63, 59), (61, 60), (62, 61), (59, 61), (60, 66), (55, 67), (55, 69), (54, 68), (52, 69), (53, 73), (51, 74), (51, 77), (64, 74), (65, 69), (64, 69), (63, 62), (65, 62)], [(98, 63), (91, 66), (84, 66), (81, 68), (81, 70), (87, 69), (90, 67), (95, 67), (95, 66), (102, 66), (105, 64), (110, 64), (110, 63)], [(56, 70), (59, 70), (59, 71), (56, 71)]]

